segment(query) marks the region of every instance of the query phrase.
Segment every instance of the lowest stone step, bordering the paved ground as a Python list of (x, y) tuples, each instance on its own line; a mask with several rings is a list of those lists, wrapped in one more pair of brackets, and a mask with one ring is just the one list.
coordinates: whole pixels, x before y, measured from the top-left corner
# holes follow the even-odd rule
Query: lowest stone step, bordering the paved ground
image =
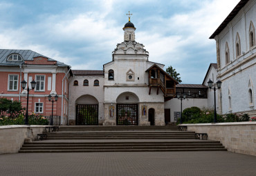
[(226, 148), (19, 150), (19, 153), (185, 152), (185, 151), (226, 151)]

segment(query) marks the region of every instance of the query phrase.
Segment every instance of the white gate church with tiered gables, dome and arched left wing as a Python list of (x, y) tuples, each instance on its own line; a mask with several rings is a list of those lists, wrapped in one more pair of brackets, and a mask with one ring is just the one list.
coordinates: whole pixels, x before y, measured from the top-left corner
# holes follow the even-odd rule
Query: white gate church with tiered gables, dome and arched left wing
[(124, 41), (103, 70), (72, 70), (68, 124), (165, 125), (165, 101), (176, 96), (179, 83), (163, 64), (149, 61), (130, 20), (123, 30)]

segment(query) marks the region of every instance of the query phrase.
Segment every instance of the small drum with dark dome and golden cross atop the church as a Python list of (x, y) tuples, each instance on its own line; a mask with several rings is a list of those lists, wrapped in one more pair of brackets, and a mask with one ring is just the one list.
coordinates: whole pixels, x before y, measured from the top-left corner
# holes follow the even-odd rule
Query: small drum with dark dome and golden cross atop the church
[(125, 27), (122, 28), (124, 30), (124, 41), (135, 41), (135, 30), (134, 23), (131, 23), (130, 11), (128, 14), (129, 21), (125, 24)]

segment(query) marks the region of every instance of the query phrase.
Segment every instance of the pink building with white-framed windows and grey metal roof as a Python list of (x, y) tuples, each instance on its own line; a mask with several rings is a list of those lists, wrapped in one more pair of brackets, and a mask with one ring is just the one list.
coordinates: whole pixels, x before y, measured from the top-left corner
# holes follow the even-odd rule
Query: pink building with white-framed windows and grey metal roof
[(71, 66), (32, 50), (0, 50), (0, 97), (21, 101), (26, 108), (27, 90), (21, 88), (21, 81), (25, 79), (30, 84), (35, 80), (35, 89), (29, 92), (28, 112), (50, 116), (52, 102), (48, 95), (57, 95), (53, 115), (60, 116), (61, 123), (66, 124), (70, 69)]

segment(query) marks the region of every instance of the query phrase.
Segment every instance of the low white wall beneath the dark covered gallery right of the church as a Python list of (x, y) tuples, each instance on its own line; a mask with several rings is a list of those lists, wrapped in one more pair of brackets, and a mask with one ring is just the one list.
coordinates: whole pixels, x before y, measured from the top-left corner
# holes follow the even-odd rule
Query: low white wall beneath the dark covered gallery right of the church
[[(185, 108), (190, 108), (196, 106), (199, 108), (207, 108), (208, 99), (183, 99), (182, 110)], [(181, 100), (174, 98), (169, 101), (165, 101), (165, 109), (170, 109), (171, 112), (171, 122), (174, 121), (174, 112), (181, 112)]]

